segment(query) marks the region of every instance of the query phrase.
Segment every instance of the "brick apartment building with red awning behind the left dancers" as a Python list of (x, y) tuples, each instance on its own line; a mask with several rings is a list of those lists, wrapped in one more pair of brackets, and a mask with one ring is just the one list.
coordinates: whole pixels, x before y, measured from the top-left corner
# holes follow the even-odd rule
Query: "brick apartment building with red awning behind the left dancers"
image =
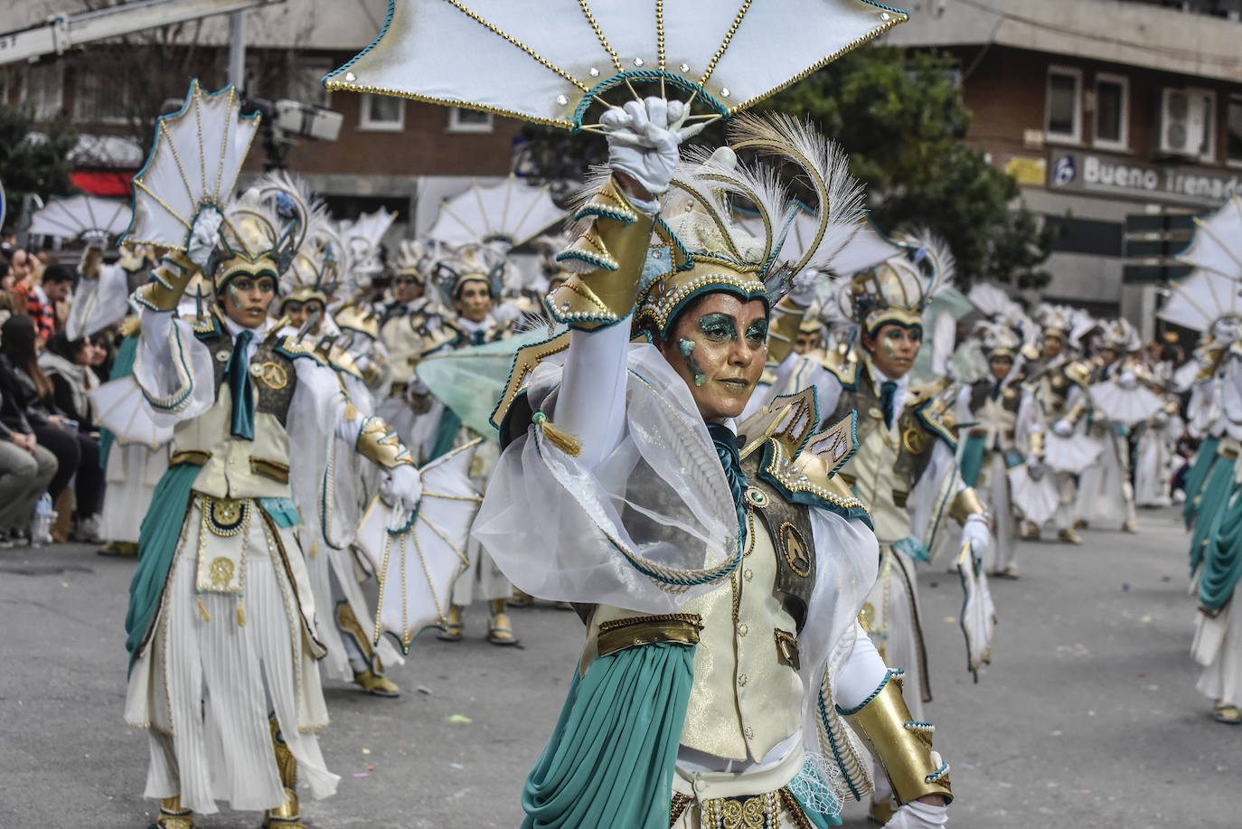
[[(83, 0), (0, 0), (2, 29), (41, 22), (51, 12), (81, 11)], [(424, 230), (441, 199), (472, 179), (504, 176), (520, 123), (489, 113), (383, 96), (338, 92), (319, 83), (384, 25), (386, 0), (284, 2), (247, 12), (245, 92), (289, 98), (342, 116), (334, 142), (299, 140), (286, 168), (303, 175), (338, 215), (386, 206), (397, 213), (389, 240)], [(150, 117), (181, 98), (191, 77), (205, 88), (227, 83), (229, 20), (144, 32), (132, 47), (98, 44), (35, 63), (0, 66), (0, 98), (30, 107), (40, 128), (58, 114), (79, 133), (73, 180), (103, 195), (128, 194), (129, 179), (150, 147)], [(258, 172), (265, 147), (247, 162)]]

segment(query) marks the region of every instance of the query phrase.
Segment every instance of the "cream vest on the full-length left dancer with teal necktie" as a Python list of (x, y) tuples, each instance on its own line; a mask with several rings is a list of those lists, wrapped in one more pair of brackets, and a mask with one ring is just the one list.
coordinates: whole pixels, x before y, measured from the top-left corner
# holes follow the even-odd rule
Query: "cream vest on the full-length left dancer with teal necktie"
[(221, 384), (216, 403), (173, 433), (173, 461), (179, 455), (206, 456), (194, 491), (214, 498), (289, 497), (289, 435), (274, 415), (255, 411), (255, 440), (233, 437), (232, 394)]

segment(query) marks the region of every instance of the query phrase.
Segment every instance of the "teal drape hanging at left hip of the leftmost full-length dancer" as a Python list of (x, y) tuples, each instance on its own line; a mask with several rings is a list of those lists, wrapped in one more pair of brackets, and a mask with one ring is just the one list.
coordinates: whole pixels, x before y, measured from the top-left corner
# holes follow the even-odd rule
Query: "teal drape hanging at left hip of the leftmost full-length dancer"
[(199, 467), (193, 464), (170, 466), (155, 485), (152, 506), (138, 531), (138, 569), (129, 583), (129, 610), (125, 613), (125, 650), (129, 651), (130, 669), (159, 608), (159, 597), (164, 592), (164, 582), (176, 554), (176, 541), (181, 537), (181, 523), (190, 506), (190, 487), (197, 476)]

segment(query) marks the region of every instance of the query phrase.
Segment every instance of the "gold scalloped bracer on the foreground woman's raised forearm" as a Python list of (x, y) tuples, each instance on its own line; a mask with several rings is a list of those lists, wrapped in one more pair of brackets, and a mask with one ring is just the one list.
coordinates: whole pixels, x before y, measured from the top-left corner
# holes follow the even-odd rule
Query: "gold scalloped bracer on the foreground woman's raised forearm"
[(638, 297), (638, 277), (651, 245), (652, 218), (633, 206), (615, 176), (575, 214), (591, 224), (556, 261), (586, 262), (545, 300), (556, 322), (594, 331), (625, 319)]

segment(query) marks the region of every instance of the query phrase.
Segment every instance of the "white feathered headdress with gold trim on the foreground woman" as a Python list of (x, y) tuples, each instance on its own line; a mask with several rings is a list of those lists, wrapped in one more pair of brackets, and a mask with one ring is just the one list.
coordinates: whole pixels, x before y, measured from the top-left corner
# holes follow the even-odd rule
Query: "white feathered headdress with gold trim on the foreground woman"
[[(643, 267), (637, 328), (664, 337), (687, 303), (713, 291), (771, 307), (804, 270), (828, 267), (857, 231), (862, 190), (848, 173), (848, 160), (807, 123), (781, 114), (744, 114), (730, 124), (729, 138), (730, 147), (712, 154), (683, 153)], [(815, 191), (815, 232), (796, 256), (785, 251), (785, 241), (797, 199), (781, 181), (777, 164), (739, 160), (738, 153), (746, 150), (795, 164)], [(734, 222), (738, 203), (758, 213), (761, 235)], [(566, 267), (579, 260), (596, 266), (576, 245), (558, 256)]]

